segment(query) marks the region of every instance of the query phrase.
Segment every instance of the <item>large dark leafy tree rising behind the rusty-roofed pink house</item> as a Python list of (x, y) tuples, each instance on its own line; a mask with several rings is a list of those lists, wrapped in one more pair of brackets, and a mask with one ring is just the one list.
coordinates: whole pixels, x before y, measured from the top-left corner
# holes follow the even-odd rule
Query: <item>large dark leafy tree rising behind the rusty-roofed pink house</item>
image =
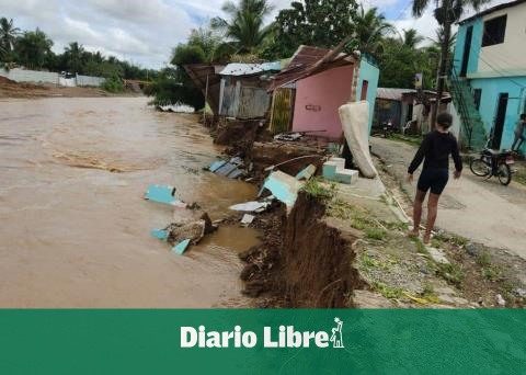
[(275, 21), (273, 43), (263, 56), (290, 57), (302, 44), (332, 48), (354, 32), (355, 0), (294, 1)]

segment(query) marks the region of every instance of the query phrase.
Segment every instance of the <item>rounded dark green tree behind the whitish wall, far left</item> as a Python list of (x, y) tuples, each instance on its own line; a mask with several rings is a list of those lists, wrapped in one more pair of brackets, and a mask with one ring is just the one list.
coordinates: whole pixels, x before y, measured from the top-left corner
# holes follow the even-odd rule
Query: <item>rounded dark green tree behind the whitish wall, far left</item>
[(19, 63), (30, 69), (42, 69), (46, 61), (53, 56), (53, 41), (39, 29), (34, 32), (25, 32), (16, 41), (15, 53)]

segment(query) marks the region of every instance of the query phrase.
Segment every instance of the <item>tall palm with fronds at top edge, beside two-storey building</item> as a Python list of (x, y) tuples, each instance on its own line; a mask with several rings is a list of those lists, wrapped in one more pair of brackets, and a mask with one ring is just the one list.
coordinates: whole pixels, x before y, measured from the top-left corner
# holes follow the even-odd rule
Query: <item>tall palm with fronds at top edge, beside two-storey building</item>
[[(444, 35), (442, 37), (441, 45), (441, 63), (438, 68), (438, 80), (436, 87), (436, 98), (437, 101), (442, 101), (442, 95), (444, 93), (445, 78), (448, 73), (447, 66), (449, 60), (449, 41), (451, 37), (451, 24), (462, 16), (464, 11), (467, 8), (472, 8), (476, 11), (480, 9), (484, 3), (490, 2), (491, 0), (413, 0), (413, 15), (422, 16), (425, 10), (431, 3), (436, 3), (437, 8), (435, 9), (435, 19), (438, 21), (438, 24), (444, 29)], [(433, 107), (433, 113), (431, 116), (431, 123), (434, 124), (436, 121), (436, 114), (439, 105)]]

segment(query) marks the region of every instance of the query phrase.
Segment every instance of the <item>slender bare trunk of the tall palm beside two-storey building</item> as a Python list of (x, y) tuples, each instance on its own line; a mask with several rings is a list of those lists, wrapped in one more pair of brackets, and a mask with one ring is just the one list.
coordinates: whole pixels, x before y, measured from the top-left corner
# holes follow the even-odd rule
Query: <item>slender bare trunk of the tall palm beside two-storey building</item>
[(449, 73), (449, 39), (451, 36), (451, 0), (443, 0), (442, 9), (444, 14), (444, 39), (442, 41), (441, 46), (441, 65), (438, 68), (438, 80), (436, 82), (436, 105), (433, 107), (431, 113), (431, 129), (435, 128), (436, 116), (442, 103), (442, 96), (444, 94), (444, 88), (446, 83), (446, 77)]

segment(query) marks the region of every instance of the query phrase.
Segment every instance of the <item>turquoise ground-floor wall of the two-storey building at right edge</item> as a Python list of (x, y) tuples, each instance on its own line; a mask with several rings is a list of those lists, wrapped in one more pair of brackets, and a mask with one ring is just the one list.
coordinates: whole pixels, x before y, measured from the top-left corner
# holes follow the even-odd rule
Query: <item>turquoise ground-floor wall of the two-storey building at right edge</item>
[[(488, 134), (493, 128), (499, 95), (501, 93), (510, 95), (501, 148), (511, 148), (515, 124), (519, 114), (526, 112), (526, 77), (513, 77), (512, 80), (507, 77), (473, 79), (470, 84), (473, 89), (482, 90), (479, 113)], [(526, 145), (523, 145), (522, 150), (526, 151)]]

